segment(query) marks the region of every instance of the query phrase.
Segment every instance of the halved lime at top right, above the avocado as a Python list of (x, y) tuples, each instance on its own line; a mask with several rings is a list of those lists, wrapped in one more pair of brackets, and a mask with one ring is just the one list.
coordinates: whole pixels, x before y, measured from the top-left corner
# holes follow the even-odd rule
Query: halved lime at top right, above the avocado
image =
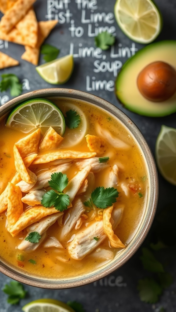
[(151, 0), (117, 0), (114, 13), (119, 27), (133, 41), (152, 42), (161, 31), (162, 16)]

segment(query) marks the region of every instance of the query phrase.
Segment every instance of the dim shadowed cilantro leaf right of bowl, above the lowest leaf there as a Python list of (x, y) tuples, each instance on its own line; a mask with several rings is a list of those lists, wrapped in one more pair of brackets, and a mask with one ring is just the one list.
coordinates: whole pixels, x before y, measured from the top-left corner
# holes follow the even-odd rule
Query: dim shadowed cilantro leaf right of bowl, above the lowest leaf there
[(150, 272), (164, 272), (163, 265), (154, 256), (148, 248), (142, 248), (142, 256), (140, 257), (145, 270)]

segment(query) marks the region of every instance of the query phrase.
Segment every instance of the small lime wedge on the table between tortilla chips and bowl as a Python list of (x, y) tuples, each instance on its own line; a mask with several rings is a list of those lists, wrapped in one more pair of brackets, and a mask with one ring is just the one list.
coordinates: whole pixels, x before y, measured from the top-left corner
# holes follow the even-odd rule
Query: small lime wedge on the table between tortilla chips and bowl
[(74, 66), (73, 55), (66, 55), (36, 67), (39, 75), (47, 82), (57, 85), (69, 80)]

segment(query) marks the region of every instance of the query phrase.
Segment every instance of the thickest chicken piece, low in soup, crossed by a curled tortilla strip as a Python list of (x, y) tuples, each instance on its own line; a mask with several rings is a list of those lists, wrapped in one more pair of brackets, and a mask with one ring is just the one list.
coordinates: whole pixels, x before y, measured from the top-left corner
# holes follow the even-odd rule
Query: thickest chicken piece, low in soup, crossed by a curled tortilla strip
[[(123, 208), (115, 208), (112, 212), (111, 224), (113, 229), (120, 223), (123, 214)], [(98, 240), (94, 239), (97, 237)], [(68, 244), (68, 252), (75, 260), (83, 259), (87, 254), (93, 251), (106, 238), (103, 230), (103, 221), (94, 221), (84, 230), (80, 230), (74, 239)]]

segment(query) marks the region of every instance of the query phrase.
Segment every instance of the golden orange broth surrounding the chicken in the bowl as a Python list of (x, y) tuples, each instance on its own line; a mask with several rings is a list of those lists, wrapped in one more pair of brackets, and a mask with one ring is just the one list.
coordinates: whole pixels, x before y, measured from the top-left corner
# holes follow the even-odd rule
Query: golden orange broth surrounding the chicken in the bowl
[[(120, 121), (94, 105), (71, 99), (56, 100), (54, 98), (52, 100), (60, 107), (63, 113), (67, 110), (67, 103), (77, 105), (77, 107), (84, 112), (87, 119), (86, 134), (98, 136), (98, 134), (96, 134), (96, 122), (98, 122), (103, 128), (109, 130), (113, 136), (116, 136), (129, 145), (129, 149), (127, 150), (117, 149), (109, 145), (109, 148), (105, 153), (106, 156), (108, 156), (108, 154), (110, 155), (110, 166), (112, 166), (113, 163), (116, 163), (119, 167), (119, 186), (117, 187), (119, 196), (117, 198), (116, 206), (124, 207), (124, 211), (122, 220), (116, 228), (115, 233), (122, 243), (127, 245), (132, 240), (141, 224), (148, 193), (148, 178), (145, 163), (134, 138), (128, 133), (127, 129)], [(0, 127), (0, 193), (2, 193), (8, 184), (8, 181), (13, 178), (16, 172), (14, 167), (13, 145), (26, 134), (7, 128), (5, 126), (5, 119), (1, 120)], [(69, 131), (70, 130), (67, 129), (66, 133)], [(63, 144), (61, 144), (61, 148), (64, 148), (64, 140)], [(83, 138), (79, 144), (71, 146), (70, 148), (66, 147), (66, 149), (89, 152), (85, 138)], [(105, 155), (101, 155), (98, 157), (104, 156)], [(36, 167), (35, 170), (41, 170), (41, 168), (47, 169), (48, 164), (43, 164), (42, 166), (39, 165), (39, 168)], [(77, 169), (74, 165), (71, 170), (68, 170), (67, 176), (69, 180), (74, 176), (76, 170)], [(108, 169), (105, 168), (99, 173), (95, 173), (95, 185), (93, 189), (99, 186), (106, 187), (107, 172)], [(120, 186), (122, 182), (128, 188), (128, 196), (125, 195), (122, 186)], [(84, 202), (84, 193), (82, 193), (80, 197)], [(92, 217), (93, 212), (88, 210), (89, 209), (86, 209), (85, 214), (89, 220), (89, 217)], [(103, 211), (103, 209), (101, 210)], [(98, 213), (101, 215), (101, 212), (98, 211), (100, 211), (100, 209), (97, 208), (96, 217), (99, 216)], [(84, 232), (85, 228), (86, 222), (82, 224), (81, 230)], [(20, 251), (17, 249), (17, 246), (26, 236), (27, 231), (23, 230), (17, 236), (12, 237), (6, 229), (6, 212), (3, 212), (0, 215), (0, 246), (2, 261), (9, 262), (11, 265), (15, 266), (18, 271), (22, 270), (29, 275), (36, 275), (46, 279), (71, 278), (90, 273), (92, 270), (101, 267), (105, 263), (105, 259), (95, 258), (94, 256), (91, 256), (91, 254), (85, 256), (82, 260), (74, 260), (70, 257), (70, 254), (66, 249), (67, 242), (75, 233), (76, 230), (73, 229), (65, 237), (65, 241), (61, 241), (64, 247), (62, 250), (55, 247), (44, 248), (41, 243), (41, 246), (35, 251)], [(47, 237), (51, 236), (60, 240), (60, 227), (57, 221), (47, 230)], [(119, 249), (110, 247), (108, 238), (106, 238), (98, 248), (99, 250), (101, 248), (109, 250), (110, 252), (113, 252), (114, 255), (119, 252)], [(24, 261), (19, 261), (17, 259), (19, 254), (24, 256)], [(36, 261), (36, 264), (29, 262), (30, 259)]]

